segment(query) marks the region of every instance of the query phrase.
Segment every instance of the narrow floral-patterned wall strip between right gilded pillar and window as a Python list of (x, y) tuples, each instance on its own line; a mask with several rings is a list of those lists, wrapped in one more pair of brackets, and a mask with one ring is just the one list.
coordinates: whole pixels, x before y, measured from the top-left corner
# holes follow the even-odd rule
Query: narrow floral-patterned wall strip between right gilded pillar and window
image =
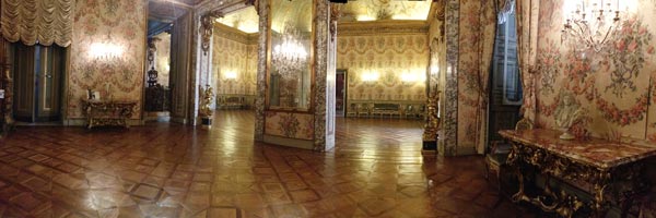
[(488, 78), (496, 26), (492, 1), (460, 1), (458, 28), (458, 155), (483, 153), (488, 134)]

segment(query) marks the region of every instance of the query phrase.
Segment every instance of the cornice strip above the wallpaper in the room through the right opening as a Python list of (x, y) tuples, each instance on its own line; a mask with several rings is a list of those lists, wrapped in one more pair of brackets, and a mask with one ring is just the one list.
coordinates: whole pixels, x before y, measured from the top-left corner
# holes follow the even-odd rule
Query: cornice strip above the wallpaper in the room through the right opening
[(338, 36), (376, 35), (376, 34), (427, 34), (426, 21), (370, 21), (339, 22)]

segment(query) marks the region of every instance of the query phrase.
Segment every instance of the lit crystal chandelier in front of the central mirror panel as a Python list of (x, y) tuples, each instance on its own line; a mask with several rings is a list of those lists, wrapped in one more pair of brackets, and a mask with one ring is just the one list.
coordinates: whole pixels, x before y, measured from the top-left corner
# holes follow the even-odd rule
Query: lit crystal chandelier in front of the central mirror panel
[(293, 25), (286, 23), (281, 35), (281, 43), (273, 47), (271, 64), (284, 78), (300, 76), (301, 72), (307, 68), (307, 51), (300, 41), (301, 33), (294, 29)]

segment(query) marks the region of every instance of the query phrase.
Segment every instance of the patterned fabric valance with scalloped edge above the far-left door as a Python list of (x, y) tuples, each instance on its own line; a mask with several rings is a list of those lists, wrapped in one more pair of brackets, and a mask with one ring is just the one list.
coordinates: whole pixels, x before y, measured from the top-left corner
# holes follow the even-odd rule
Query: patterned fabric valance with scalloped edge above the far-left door
[(2, 36), (32, 46), (68, 47), (73, 35), (75, 0), (1, 0)]

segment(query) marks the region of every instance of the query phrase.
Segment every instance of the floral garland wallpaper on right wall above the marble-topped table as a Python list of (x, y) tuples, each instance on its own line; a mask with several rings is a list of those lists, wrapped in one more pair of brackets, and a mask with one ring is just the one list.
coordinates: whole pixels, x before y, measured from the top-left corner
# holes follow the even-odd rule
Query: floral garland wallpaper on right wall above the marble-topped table
[(621, 20), (620, 40), (606, 50), (574, 52), (561, 43), (563, 0), (540, 2), (537, 124), (554, 126), (554, 110), (563, 93), (574, 94), (589, 111), (593, 135), (656, 142), (656, 76), (654, 34), (656, 2), (637, 1), (637, 11)]

